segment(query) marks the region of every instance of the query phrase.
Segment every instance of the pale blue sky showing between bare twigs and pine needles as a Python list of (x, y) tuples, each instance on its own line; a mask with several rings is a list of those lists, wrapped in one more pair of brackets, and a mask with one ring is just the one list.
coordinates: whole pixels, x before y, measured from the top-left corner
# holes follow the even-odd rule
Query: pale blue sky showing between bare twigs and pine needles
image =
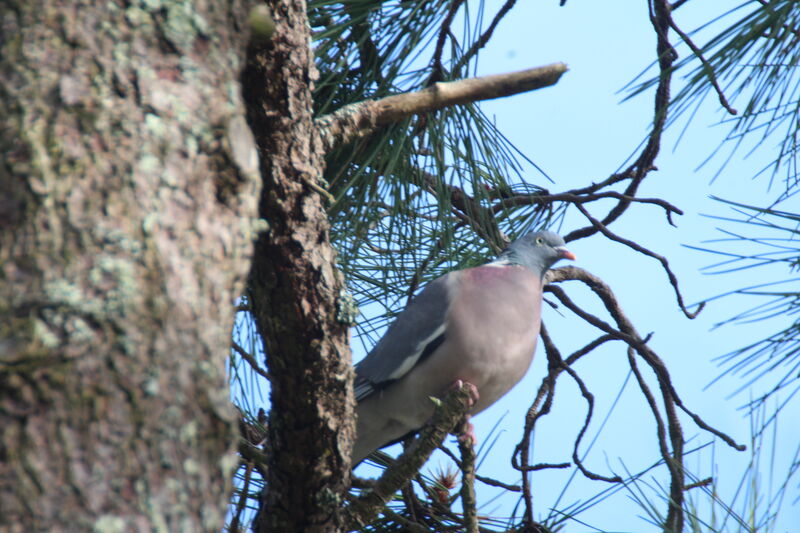
[[(693, 29), (701, 21), (718, 14), (714, 10), (720, 8), (719, 4), (714, 4), (689, 2), (676, 13), (676, 19), (684, 29)], [(500, 5), (500, 2), (487, 2), (487, 13), (493, 14)], [(553, 192), (584, 186), (606, 178), (623, 166), (647, 133), (652, 117), (652, 93), (622, 103), (624, 93), (620, 90), (653, 61), (654, 49), (655, 37), (645, 2), (569, 0), (565, 7), (558, 7), (556, 0), (520, 2), (480, 56), (478, 74), (520, 70), (556, 61), (567, 63), (570, 71), (554, 87), (481, 105), (487, 114), (496, 118), (500, 131), (555, 183), (545, 183), (534, 171), (526, 178)], [(686, 52), (681, 50), (682, 55)], [(688, 303), (753, 285), (771, 279), (770, 276), (782, 279), (788, 274), (785, 270), (768, 268), (745, 270), (736, 275), (704, 274), (701, 269), (716, 262), (716, 258), (684, 246), (704, 246), (707, 241), (721, 237), (717, 230), (720, 224), (703, 215), (730, 215), (731, 212), (710, 199), (710, 195), (764, 205), (775, 196), (774, 190), (767, 191), (766, 180), (751, 179), (772, 157), (768, 150), (747, 159), (742, 152), (713, 184), (712, 177), (722, 158), (698, 169), (727, 131), (724, 126), (714, 126), (724, 118), (718, 107), (716, 101), (709, 99), (677, 145), (683, 123), (668, 131), (657, 159), (659, 171), (647, 178), (640, 192), (641, 196), (663, 198), (683, 209), (685, 215), (675, 218), (678, 227), (669, 226), (663, 211), (652, 206), (634, 206), (612, 226), (617, 234), (669, 259)], [(783, 207), (792, 210), (790, 205)], [(599, 207), (593, 211), (595, 215), (603, 213)], [(586, 222), (580, 214), (571, 212), (566, 217), (563, 232), (584, 225)], [(720, 372), (712, 359), (762, 338), (777, 330), (778, 324), (759, 322), (712, 330), (716, 323), (754, 302), (741, 297), (715, 300), (697, 319), (690, 321), (678, 309), (666, 274), (653, 259), (602, 236), (571, 243), (570, 249), (578, 255), (579, 266), (599, 275), (613, 288), (638, 331), (653, 333), (650, 345), (666, 361), (685, 403), (713, 426), (749, 445), (749, 420), (744, 412), (737, 410), (747, 400), (748, 392), (730, 397), (742, 384), (734, 377), (706, 388)], [(577, 294), (589, 310), (601, 312), (597, 302), (577, 283), (567, 284), (566, 289), (571, 295)], [(546, 309), (545, 322), (562, 353), (570, 353), (593, 338), (593, 331), (568, 311), (559, 314)], [(354, 355), (358, 359), (363, 353)], [(525, 411), (545, 369), (546, 361), (540, 349), (526, 378), (500, 402), (475, 418), (479, 439), (489, 435), (497, 420), (503, 419), (499, 438), (481, 466), (486, 475), (507, 482), (519, 479), (509, 465), (509, 457), (519, 441)], [(596, 399), (594, 422), (582, 446), (585, 451), (627, 376), (625, 350), (621, 345), (607, 346), (581, 362), (577, 370), (587, 380)], [(753, 394), (758, 394), (759, 390), (756, 385)], [(568, 379), (562, 379), (553, 412), (538, 426), (532, 462), (569, 461), (585, 409), (577, 388)], [(713, 440), (688, 418), (683, 419), (683, 428), (690, 439), (687, 448)], [(780, 480), (800, 442), (800, 428), (792, 427), (791, 421), (784, 419), (778, 431), (773, 471), (775, 479)], [(657, 452), (652, 415), (631, 382), (588, 454), (586, 465), (601, 474), (624, 474), (625, 468), (634, 472), (649, 466), (657, 460)], [(712, 456), (709, 448), (689, 459), (687, 465), (701, 478), (716, 476), (723, 501), (730, 501), (750, 454), (735, 452), (720, 442), (713, 452)], [(434, 457), (428, 470), (433, 471), (444, 463), (444, 459)], [(761, 490), (766, 496), (770, 476), (767, 468), (762, 473)], [(554, 506), (569, 475), (557, 471), (533, 474), (538, 517), (546, 516), (548, 509)], [(667, 479), (661, 470), (646, 482), (666, 487)], [(586, 499), (605, 488), (607, 486), (601, 482), (589, 482), (578, 475), (559, 505), (563, 507), (565, 503)], [(487, 502), (498, 492), (479, 487), (479, 501)], [(774, 531), (788, 533), (790, 524), (800, 523), (800, 506), (791, 505), (791, 500), (799, 493), (795, 482), (790, 501), (784, 504), (782, 519)], [(503, 497), (480, 511), (502, 515), (510, 511), (515, 501), (514, 497)], [(613, 503), (605, 502), (581, 514), (580, 519), (589, 526), (608, 531), (658, 530), (642, 519), (643, 510), (631, 501), (625, 490), (611, 501)], [(663, 510), (664, 506), (660, 507)], [(734, 508), (740, 512), (743, 509), (742, 505)], [(710, 518), (709, 511), (701, 510), (701, 516), (704, 514), (705, 518)], [(571, 523), (565, 531), (596, 530), (589, 526)]]

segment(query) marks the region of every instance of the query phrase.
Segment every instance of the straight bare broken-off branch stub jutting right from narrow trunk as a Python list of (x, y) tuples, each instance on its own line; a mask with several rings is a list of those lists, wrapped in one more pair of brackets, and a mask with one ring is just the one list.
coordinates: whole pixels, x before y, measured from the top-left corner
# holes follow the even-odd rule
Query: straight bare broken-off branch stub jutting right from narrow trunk
[(439, 82), (417, 92), (350, 104), (317, 118), (315, 123), (324, 150), (329, 152), (336, 146), (365, 137), (381, 126), (399, 122), (411, 115), (549, 87), (566, 71), (564, 63), (553, 63), (518, 72)]

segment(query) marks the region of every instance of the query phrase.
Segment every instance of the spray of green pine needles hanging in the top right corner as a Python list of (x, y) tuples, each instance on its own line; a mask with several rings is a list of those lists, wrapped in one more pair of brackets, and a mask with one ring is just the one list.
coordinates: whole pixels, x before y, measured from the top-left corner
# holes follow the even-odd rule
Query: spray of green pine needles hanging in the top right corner
[[(676, 2), (678, 7), (684, 3)], [(720, 146), (709, 155), (715, 160), (718, 153), (727, 154), (717, 175), (737, 151), (763, 151), (764, 143), (777, 145), (771, 164), (759, 172), (768, 177), (770, 186), (776, 180), (782, 183), (777, 203), (800, 185), (800, 6), (793, 0), (747, 0), (720, 7), (718, 17), (691, 32), (674, 26), (681, 32), (684, 54), (675, 69), (684, 83), (672, 100), (670, 120), (683, 118), (684, 127), (689, 127), (704, 101), (718, 100), (724, 115), (721, 125), (729, 132), (723, 141), (726, 149)], [(680, 13), (675, 12), (678, 22)], [(698, 37), (705, 42), (695, 43)], [(656, 81), (642, 83), (633, 94)]]

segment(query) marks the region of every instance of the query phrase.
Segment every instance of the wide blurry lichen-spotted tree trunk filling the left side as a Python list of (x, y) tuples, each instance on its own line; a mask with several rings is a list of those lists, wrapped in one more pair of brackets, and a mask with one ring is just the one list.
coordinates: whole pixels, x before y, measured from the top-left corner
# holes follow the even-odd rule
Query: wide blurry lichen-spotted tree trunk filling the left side
[(219, 531), (246, 6), (0, 10), (0, 530)]

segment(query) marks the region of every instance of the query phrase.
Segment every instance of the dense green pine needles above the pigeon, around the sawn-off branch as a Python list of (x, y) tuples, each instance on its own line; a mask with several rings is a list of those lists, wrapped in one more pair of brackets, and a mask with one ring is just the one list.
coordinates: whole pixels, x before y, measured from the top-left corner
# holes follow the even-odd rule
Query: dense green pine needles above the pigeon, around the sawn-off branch
[[(459, 7), (463, 42), (445, 33)], [(484, 7), (472, 13), (462, 2), (311, 2), (318, 115), (469, 77)], [(531, 179), (531, 170), (472, 104), (407, 120), (329, 154), (332, 239), (358, 304), (381, 302), (391, 314), (427, 281), (485, 260), (508, 236), (552, 223), (558, 206), (490, 210), (509, 192), (541, 192), (537, 183), (545, 179)], [(464, 193), (474, 202), (457, 205)], [(359, 323), (359, 332), (385, 317), (376, 320)]]

